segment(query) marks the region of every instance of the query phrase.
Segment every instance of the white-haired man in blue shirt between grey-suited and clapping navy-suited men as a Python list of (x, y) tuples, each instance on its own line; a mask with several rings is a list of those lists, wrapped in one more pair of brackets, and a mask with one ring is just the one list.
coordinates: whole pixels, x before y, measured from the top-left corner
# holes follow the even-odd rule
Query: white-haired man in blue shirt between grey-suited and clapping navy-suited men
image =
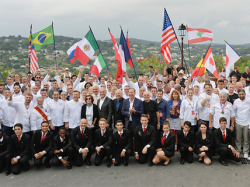
[(125, 124), (125, 117), (122, 115), (122, 105), (124, 98), (122, 97), (122, 91), (115, 91), (116, 99), (113, 100), (113, 114), (114, 114), (114, 124), (117, 120), (121, 120)]

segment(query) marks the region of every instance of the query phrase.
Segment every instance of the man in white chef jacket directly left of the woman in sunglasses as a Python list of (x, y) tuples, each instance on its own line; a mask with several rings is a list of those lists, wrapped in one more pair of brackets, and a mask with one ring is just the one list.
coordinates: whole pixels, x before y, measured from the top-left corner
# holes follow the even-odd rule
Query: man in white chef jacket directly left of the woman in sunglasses
[(83, 102), (79, 100), (80, 92), (78, 90), (73, 91), (73, 99), (65, 103), (63, 122), (65, 122), (65, 128), (70, 133), (72, 129), (79, 126), (81, 120), (81, 109)]

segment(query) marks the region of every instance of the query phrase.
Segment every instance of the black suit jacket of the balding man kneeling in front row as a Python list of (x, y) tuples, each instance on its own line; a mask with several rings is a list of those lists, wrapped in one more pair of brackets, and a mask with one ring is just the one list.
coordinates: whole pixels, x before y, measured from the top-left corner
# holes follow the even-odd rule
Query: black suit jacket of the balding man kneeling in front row
[(84, 130), (84, 134), (82, 136), (82, 131), (79, 127), (75, 127), (70, 134), (72, 146), (75, 150), (79, 150), (80, 148), (87, 147), (88, 149), (92, 145), (92, 131), (90, 128), (86, 127)]

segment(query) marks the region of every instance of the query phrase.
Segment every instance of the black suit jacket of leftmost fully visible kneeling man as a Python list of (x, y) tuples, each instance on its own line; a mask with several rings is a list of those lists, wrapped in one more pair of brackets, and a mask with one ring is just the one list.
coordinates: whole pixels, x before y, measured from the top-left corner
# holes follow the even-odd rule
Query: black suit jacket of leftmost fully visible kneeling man
[(17, 135), (13, 134), (11, 136), (11, 149), (12, 157), (20, 156), (21, 158), (24, 155), (30, 155), (30, 136), (28, 134), (23, 134), (20, 142), (18, 142)]

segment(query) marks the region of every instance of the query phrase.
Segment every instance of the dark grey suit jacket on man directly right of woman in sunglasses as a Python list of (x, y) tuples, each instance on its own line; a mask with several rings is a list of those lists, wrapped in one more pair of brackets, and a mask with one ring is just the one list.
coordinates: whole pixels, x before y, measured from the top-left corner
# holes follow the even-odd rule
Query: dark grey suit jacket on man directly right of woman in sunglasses
[(99, 112), (99, 118), (105, 118), (109, 124), (109, 127), (112, 125), (112, 100), (106, 96), (102, 108), (99, 107), (100, 99), (97, 100), (97, 107)]

